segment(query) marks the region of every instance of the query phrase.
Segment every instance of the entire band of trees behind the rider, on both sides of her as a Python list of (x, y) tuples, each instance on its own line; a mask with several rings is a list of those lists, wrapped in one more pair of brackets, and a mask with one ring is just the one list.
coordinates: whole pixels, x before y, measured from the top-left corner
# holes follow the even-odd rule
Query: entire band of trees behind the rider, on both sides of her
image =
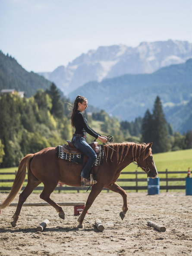
[[(70, 104), (60, 96), (52, 83), (46, 91), (39, 89), (30, 98), (21, 98), (17, 92), (0, 96), (0, 162), (1, 168), (18, 166), (28, 153), (35, 153), (46, 147), (62, 145), (72, 138)], [(186, 134), (174, 133), (164, 117), (161, 100), (156, 98), (153, 113), (127, 122), (110, 117), (104, 110), (93, 111), (85, 116), (94, 130), (113, 135), (115, 142), (154, 142), (154, 153), (192, 148), (192, 131)], [(93, 138), (88, 136), (87, 141)]]

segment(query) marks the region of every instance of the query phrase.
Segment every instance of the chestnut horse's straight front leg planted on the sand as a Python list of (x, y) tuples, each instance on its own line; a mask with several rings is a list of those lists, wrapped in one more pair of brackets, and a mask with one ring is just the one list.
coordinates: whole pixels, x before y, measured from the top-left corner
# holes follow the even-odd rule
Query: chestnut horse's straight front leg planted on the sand
[(88, 211), (88, 209), (91, 207), (92, 203), (94, 202), (94, 199), (98, 196), (98, 194), (101, 192), (101, 190), (103, 189), (103, 186), (99, 186), (99, 184), (95, 184), (92, 189), (91, 192), (88, 196), (87, 202), (85, 203), (85, 208), (83, 209), (81, 215), (78, 218), (78, 228), (83, 228), (83, 221), (85, 218), (85, 214)]

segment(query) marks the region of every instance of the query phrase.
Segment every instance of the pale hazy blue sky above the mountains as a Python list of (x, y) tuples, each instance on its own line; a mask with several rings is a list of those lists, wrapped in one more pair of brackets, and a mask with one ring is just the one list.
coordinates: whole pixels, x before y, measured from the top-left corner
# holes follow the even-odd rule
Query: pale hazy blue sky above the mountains
[(0, 0), (0, 49), (53, 71), (99, 46), (192, 42), (192, 0)]

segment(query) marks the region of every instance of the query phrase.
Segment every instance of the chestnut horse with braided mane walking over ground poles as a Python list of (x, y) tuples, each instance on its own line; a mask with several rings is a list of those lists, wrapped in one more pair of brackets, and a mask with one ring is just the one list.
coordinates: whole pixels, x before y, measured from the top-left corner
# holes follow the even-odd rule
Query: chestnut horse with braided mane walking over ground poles
[[(81, 215), (79, 215), (78, 228), (84, 227), (83, 220), (85, 214), (103, 188), (120, 193), (123, 197), (123, 207), (122, 212), (120, 212), (120, 218), (123, 220), (128, 211), (127, 194), (125, 190), (116, 183), (116, 180), (120, 176), (121, 171), (134, 161), (147, 173), (148, 177), (155, 178), (157, 176), (157, 169), (154, 164), (151, 145), (152, 142), (148, 144), (123, 142), (110, 143), (103, 146), (103, 162), (100, 166), (94, 166), (93, 168), (97, 183), (91, 187), (85, 208)], [(8, 206), (21, 190), (25, 180), (26, 167), (28, 169), (28, 183), (19, 195), (16, 212), (12, 217), (13, 221), (11, 221), (12, 227), (16, 227), (23, 203), (41, 182), (44, 184), (44, 189), (40, 194), (40, 198), (52, 205), (58, 212), (59, 217), (64, 219), (65, 213), (62, 207), (50, 199), (50, 194), (54, 191), (59, 182), (69, 186), (81, 186), (80, 175), (82, 165), (57, 158), (56, 148), (54, 147), (42, 149), (35, 154), (26, 155), (19, 163), (12, 189), (7, 198), (1, 203), (0, 209), (4, 209)]]

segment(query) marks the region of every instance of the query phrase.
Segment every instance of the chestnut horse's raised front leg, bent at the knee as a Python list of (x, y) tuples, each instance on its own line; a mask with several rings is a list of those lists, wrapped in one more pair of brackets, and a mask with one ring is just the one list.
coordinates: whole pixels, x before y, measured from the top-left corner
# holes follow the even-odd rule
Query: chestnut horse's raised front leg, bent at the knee
[(120, 195), (123, 197), (123, 207), (122, 212), (120, 212), (120, 217), (123, 220), (125, 218), (126, 212), (128, 211), (127, 193), (119, 185), (117, 185), (117, 183), (112, 183), (106, 186), (106, 188), (112, 190), (113, 192), (120, 193)]

